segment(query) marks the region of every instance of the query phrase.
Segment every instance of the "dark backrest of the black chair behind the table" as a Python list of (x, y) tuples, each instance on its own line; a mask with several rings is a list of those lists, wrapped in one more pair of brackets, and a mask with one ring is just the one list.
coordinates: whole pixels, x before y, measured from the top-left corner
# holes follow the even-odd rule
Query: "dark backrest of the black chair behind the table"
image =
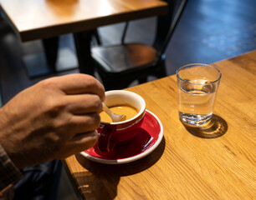
[(172, 33), (177, 27), (177, 23), (182, 15), (187, 0), (164, 0), (168, 3), (167, 15), (157, 17), (156, 36), (153, 42), (153, 47), (159, 53), (158, 62), (161, 60), (166, 47), (170, 42)]

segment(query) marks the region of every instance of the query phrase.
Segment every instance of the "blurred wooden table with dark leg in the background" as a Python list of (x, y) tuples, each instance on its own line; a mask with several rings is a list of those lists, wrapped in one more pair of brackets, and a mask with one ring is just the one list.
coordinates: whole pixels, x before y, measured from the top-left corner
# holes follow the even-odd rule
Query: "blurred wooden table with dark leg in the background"
[(167, 13), (159, 0), (0, 0), (0, 5), (23, 42), (74, 33), (79, 70), (89, 74), (94, 73), (90, 30)]

